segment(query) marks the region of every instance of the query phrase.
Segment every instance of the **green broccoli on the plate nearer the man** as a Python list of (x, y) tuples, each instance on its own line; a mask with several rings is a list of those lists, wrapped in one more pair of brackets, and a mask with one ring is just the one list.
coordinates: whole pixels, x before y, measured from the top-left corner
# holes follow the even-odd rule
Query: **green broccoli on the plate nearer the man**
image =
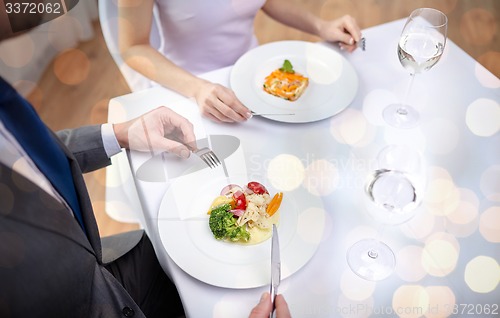
[(210, 212), (208, 225), (214, 237), (218, 240), (230, 239), (231, 241), (248, 241), (250, 233), (236, 224), (234, 215), (229, 212), (231, 205), (222, 204)]

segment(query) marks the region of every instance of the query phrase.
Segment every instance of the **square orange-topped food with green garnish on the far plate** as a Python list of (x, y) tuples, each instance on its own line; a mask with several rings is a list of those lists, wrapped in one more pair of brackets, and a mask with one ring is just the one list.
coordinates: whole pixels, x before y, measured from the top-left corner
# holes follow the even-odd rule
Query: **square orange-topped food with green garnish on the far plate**
[(283, 62), (283, 66), (274, 70), (264, 81), (264, 91), (267, 93), (289, 100), (297, 100), (309, 85), (309, 78), (297, 73), (289, 60)]

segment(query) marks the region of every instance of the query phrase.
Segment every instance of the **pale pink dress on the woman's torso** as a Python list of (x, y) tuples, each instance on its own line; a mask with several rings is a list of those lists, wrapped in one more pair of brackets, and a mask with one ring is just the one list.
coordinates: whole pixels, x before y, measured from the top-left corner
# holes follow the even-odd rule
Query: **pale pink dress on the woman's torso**
[(254, 19), (265, 0), (155, 0), (159, 51), (200, 74), (232, 65), (257, 46)]

